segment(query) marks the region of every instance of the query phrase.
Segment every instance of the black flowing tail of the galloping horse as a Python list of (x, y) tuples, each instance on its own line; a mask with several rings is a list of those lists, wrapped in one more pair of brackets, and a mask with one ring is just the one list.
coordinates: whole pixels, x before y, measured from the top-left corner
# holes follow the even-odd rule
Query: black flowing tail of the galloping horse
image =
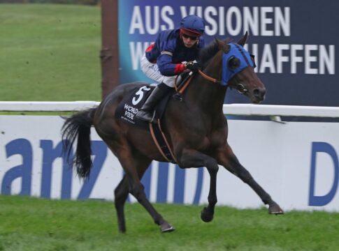
[(96, 108), (87, 109), (64, 118), (66, 121), (62, 126), (63, 151), (66, 153), (67, 160), (71, 156), (73, 143), (78, 138), (75, 155), (71, 162), (80, 178), (88, 178), (92, 167), (90, 134), (95, 111)]

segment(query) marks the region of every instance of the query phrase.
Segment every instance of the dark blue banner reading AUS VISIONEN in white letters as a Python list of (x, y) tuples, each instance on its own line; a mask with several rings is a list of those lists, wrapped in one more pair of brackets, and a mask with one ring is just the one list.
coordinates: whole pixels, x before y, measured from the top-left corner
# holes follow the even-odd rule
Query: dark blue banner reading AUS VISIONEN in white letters
[[(247, 50), (266, 85), (264, 104), (338, 106), (338, 10), (334, 0), (119, 1), (120, 81), (152, 82), (140, 70), (145, 48), (195, 14), (206, 22), (206, 43), (250, 33)], [(229, 90), (225, 102), (248, 100)]]

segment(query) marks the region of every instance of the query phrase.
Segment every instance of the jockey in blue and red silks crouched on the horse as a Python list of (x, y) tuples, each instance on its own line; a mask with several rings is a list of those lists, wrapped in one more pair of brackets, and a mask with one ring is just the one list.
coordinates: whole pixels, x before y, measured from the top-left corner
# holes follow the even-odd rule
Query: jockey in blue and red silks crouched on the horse
[[(160, 83), (136, 114), (140, 120), (152, 122), (155, 105), (174, 87), (175, 77), (185, 70), (199, 70), (199, 50), (205, 45), (205, 22), (201, 17), (188, 15), (181, 20), (180, 28), (161, 31), (143, 58), (141, 69), (150, 79)], [(182, 63), (187, 62), (187, 63)]]

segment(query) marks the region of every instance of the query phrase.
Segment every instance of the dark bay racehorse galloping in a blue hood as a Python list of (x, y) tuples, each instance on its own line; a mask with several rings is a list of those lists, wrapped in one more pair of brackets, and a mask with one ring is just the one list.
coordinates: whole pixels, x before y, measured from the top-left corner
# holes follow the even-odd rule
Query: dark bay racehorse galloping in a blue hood
[[(247, 33), (238, 43), (215, 39), (205, 47), (200, 56), (200, 74), (193, 76), (191, 84), (182, 93), (182, 101), (174, 98), (168, 101), (161, 123), (179, 167), (206, 167), (210, 174), (208, 206), (201, 211), (204, 222), (210, 222), (214, 215), (219, 165), (250, 185), (264, 204), (268, 205), (268, 213), (283, 213), (280, 206), (240, 164), (227, 143), (228, 127), (222, 112), (226, 89), (238, 89), (253, 103), (264, 100), (266, 93), (264, 84), (254, 73), (254, 59), (243, 48), (246, 39)], [(115, 110), (122, 98), (129, 95), (137, 85), (140, 83), (117, 86), (99, 107), (66, 119), (62, 129), (66, 144), (64, 151), (69, 153), (75, 139), (78, 140), (73, 160), (75, 169), (81, 178), (88, 177), (92, 167), (90, 128), (94, 126), (98, 135), (117, 156), (125, 172), (124, 178), (115, 188), (119, 230), (126, 231), (124, 203), (130, 192), (150, 213), (162, 232), (173, 231), (172, 225), (150, 204), (140, 183), (152, 160), (166, 160), (159, 153), (150, 132), (129, 126), (115, 117)]]

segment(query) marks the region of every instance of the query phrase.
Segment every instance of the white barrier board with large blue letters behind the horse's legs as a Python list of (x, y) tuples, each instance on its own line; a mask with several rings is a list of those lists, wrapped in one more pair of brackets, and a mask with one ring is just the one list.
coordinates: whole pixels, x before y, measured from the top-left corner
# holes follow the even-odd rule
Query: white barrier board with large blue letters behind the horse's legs
[[(84, 185), (60, 155), (58, 116), (0, 116), (0, 191), (62, 199), (114, 199), (123, 172), (92, 130), (94, 169)], [(254, 179), (285, 210), (339, 211), (339, 123), (229, 120), (229, 144)], [(143, 178), (151, 201), (206, 204), (205, 168), (152, 162)], [(219, 205), (262, 206), (252, 189), (220, 167)], [(136, 201), (129, 197), (130, 201)]]

